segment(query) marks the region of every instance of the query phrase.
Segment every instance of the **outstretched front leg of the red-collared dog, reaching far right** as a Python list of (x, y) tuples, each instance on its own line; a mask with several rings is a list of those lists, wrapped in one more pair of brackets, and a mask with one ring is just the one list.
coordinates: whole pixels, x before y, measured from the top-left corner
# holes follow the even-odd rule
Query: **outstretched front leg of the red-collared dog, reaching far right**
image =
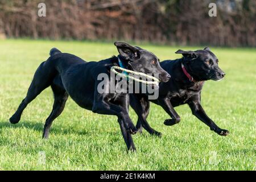
[(198, 119), (203, 121), (207, 126), (210, 127), (210, 130), (215, 131), (217, 134), (226, 136), (229, 134), (228, 130), (220, 129), (213, 121), (208, 117), (208, 115), (205, 113), (203, 107), (200, 104), (200, 100), (196, 98), (192, 98), (191, 101), (188, 102), (189, 107), (191, 108), (191, 111), (193, 115), (195, 115)]

